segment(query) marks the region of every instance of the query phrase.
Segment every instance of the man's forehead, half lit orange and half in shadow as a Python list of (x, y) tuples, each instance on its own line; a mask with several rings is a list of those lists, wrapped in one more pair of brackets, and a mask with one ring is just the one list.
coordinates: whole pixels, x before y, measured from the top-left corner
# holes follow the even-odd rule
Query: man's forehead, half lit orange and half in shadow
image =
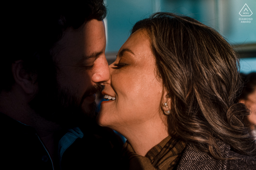
[[(91, 20), (80, 28), (68, 28), (56, 43), (52, 52), (54, 58), (92, 58), (105, 52), (106, 36), (103, 21)], [(58, 59), (57, 59), (58, 60)]]

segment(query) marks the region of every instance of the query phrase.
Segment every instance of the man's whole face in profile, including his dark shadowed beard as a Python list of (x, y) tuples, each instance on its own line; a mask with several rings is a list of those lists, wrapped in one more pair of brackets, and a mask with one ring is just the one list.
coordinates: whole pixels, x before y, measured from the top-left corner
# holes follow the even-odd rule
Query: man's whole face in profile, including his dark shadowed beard
[[(95, 93), (101, 89), (99, 83), (110, 77), (105, 47), (103, 21), (93, 19), (79, 29), (68, 28), (64, 31), (51, 51), (56, 65), (57, 82), (52, 85), (55, 89), (40, 87), (39, 82), (38, 95), (31, 101), (35, 111), (65, 127), (77, 126), (76, 122), (81, 122), (84, 116), (92, 117), (96, 107)], [(49, 80), (50, 83), (53, 81)], [(53, 94), (44, 94), (50, 91)], [(54, 107), (49, 113), (38, 110), (42, 108), (38, 103), (42, 104), (42, 99), (46, 98), (49, 107)]]

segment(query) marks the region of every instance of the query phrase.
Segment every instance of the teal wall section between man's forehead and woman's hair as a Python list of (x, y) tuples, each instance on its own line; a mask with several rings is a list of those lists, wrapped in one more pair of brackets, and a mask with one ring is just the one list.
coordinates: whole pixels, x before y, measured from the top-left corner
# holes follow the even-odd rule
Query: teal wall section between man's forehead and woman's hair
[(106, 0), (108, 16), (106, 52), (118, 51), (132, 25), (153, 13), (152, 0)]

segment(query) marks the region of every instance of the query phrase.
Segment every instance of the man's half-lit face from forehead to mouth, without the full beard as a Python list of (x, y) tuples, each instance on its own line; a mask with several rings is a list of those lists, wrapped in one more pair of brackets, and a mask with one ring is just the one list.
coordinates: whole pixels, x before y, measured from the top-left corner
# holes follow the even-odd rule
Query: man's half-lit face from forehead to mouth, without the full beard
[(105, 48), (104, 23), (94, 19), (79, 29), (68, 28), (52, 51), (60, 88), (75, 96), (85, 112), (95, 101), (96, 91), (91, 88), (109, 79)]

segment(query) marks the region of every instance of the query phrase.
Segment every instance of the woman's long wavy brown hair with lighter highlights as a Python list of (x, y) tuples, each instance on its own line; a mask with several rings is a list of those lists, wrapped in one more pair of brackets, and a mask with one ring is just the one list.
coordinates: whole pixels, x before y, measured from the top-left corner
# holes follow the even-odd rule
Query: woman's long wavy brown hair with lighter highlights
[(256, 144), (242, 122), (250, 111), (234, 102), (242, 83), (230, 44), (214, 29), (174, 13), (154, 13), (131, 33), (139, 29), (150, 37), (158, 76), (171, 99), (169, 134), (217, 159), (224, 158), (216, 139), (255, 157)]

